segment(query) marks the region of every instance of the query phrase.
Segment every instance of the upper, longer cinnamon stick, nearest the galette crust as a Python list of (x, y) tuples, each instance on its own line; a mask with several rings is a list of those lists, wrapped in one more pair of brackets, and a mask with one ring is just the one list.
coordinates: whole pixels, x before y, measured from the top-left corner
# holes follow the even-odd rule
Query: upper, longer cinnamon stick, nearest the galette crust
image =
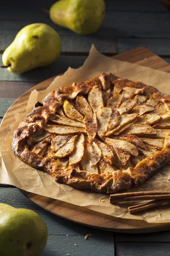
[(115, 204), (119, 202), (129, 202), (129, 201), (142, 201), (142, 200), (163, 200), (163, 199), (170, 199), (170, 194), (165, 195), (137, 195), (137, 196), (130, 196), (125, 198), (114, 198), (110, 196), (110, 203)]

